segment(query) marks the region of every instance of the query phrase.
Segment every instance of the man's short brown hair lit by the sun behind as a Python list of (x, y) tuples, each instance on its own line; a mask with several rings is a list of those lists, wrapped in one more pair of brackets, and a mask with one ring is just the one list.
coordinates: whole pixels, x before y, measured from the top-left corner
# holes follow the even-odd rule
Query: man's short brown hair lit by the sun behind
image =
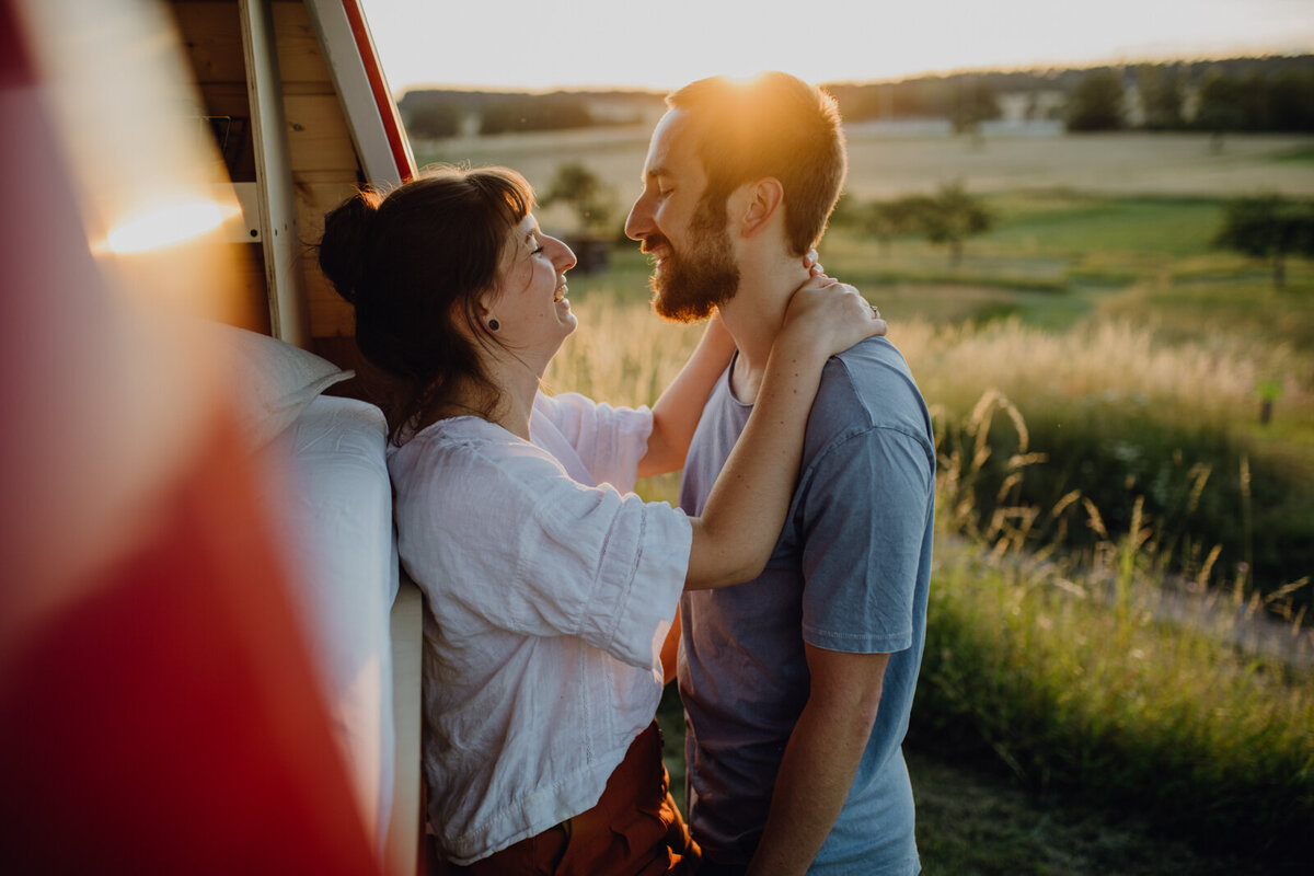
[(745, 183), (775, 177), (794, 255), (821, 239), (848, 171), (840, 109), (830, 95), (782, 72), (748, 83), (700, 79), (666, 97), (682, 110), (707, 173), (704, 198), (721, 205)]

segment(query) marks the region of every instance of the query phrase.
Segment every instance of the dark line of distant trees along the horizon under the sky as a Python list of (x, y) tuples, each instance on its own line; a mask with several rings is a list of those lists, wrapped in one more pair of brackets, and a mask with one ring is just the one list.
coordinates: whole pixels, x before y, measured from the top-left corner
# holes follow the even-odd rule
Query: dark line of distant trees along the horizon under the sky
[[(1028, 101), (1025, 118), (1060, 121), (1074, 131), (1314, 131), (1314, 55), (980, 71), (825, 88), (849, 122), (945, 118), (961, 133), (1001, 118), (1004, 96)], [(599, 114), (600, 99), (631, 112)], [(424, 139), (632, 123), (661, 105), (660, 93), (618, 91), (417, 89), (398, 102), (407, 131)]]

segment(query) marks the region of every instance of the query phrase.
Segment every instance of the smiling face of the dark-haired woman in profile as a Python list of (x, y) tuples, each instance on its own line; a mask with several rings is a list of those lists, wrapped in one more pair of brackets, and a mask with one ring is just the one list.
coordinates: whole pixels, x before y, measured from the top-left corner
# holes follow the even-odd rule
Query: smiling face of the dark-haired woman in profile
[(549, 238), (530, 213), (507, 234), (498, 288), (485, 302), (485, 323), (498, 322), (497, 338), (518, 356), (548, 360), (574, 331), (565, 273), (576, 264), (570, 247)]

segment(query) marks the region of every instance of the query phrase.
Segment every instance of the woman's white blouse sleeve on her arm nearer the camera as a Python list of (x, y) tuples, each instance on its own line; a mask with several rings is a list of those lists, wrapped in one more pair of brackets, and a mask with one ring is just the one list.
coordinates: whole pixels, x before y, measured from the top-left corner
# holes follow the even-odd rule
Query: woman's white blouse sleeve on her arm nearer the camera
[(683, 590), (689, 517), (577, 483), (524, 443), (463, 447), (423, 468), (398, 485), (398, 540), (431, 599), (509, 632), (579, 636), (632, 666), (653, 665)]

